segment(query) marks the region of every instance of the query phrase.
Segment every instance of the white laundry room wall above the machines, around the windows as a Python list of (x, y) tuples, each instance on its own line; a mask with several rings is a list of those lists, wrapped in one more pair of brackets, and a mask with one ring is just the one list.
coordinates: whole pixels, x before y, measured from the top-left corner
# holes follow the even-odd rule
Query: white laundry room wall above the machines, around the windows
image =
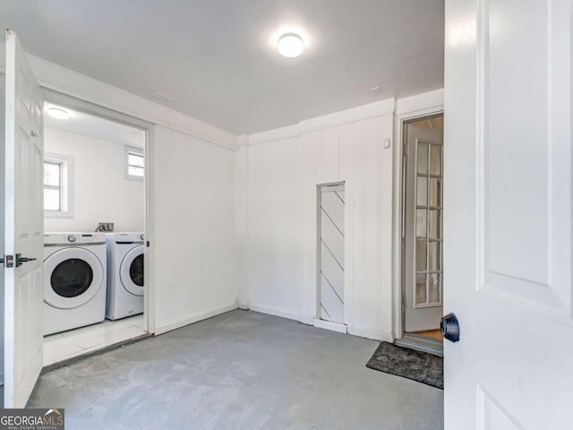
[(143, 181), (125, 176), (123, 144), (46, 128), (44, 151), (73, 158), (73, 216), (46, 215), (45, 231), (94, 231), (98, 222), (114, 222), (115, 231), (144, 230)]

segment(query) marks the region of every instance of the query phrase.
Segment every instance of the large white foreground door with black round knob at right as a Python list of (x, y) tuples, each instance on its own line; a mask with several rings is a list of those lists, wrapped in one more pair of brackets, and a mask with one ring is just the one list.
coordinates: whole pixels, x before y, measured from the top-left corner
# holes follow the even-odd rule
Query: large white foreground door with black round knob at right
[(447, 0), (445, 424), (570, 429), (570, 0)]

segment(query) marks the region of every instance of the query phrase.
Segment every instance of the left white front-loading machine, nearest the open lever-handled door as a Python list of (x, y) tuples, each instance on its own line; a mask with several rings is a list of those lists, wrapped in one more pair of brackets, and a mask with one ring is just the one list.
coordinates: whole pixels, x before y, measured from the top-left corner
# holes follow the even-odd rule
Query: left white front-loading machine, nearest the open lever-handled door
[(106, 316), (105, 233), (44, 235), (44, 334), (101, 323)]

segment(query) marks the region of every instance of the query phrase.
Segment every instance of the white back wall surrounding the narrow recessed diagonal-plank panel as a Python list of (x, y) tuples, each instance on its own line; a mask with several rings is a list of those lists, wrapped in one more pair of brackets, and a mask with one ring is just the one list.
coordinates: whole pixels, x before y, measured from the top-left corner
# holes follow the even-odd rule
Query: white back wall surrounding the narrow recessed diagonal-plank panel
[[(394, 100), (248, 137), (245, 297), (251, 309), (316, 316), (316, 185), (346, 181), (345, 322), (391, 339)], [(282, 196), (282, 197), (281, 197)]]

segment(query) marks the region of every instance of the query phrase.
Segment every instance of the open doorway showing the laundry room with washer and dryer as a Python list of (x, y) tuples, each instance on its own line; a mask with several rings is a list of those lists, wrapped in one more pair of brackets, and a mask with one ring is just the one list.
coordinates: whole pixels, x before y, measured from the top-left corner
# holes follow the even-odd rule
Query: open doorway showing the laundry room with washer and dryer
[(148, 333), (146, 131), (46, 101), (44, 366)]

